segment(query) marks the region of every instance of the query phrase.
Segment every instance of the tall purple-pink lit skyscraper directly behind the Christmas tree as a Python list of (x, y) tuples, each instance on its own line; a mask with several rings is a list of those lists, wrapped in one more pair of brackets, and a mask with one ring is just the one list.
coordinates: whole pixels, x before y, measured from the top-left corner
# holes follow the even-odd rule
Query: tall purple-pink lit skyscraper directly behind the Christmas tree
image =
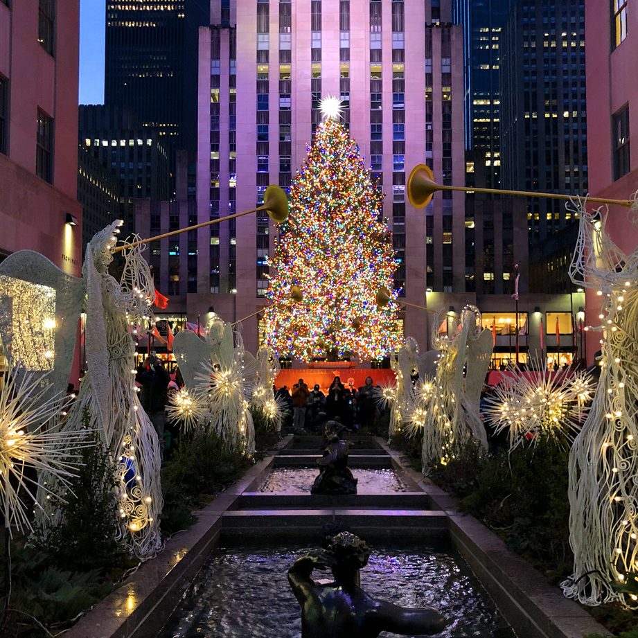
[[(418, 163), (445, 184), (463, 181), (463, 44), (451, 12), (445, 0), (212, 0), (211, 28), (200, 29), (198, 221), (254, 208), (268, 184), (289, 186), (321, 121), (319, 100), (340, 96), (385, 193), (400, 294), (425, 305), (427, 288), (464, 292), (463, 197), (445, 193), (417, 211), (405, 193)], [(233, 321), (262, 307), (276, 227), (247, 215), (197, 233), (188, 314), (212, 304)], [(404, 319), (425, 346), (425, 313)], [(244, 338), (256, 351), (256, 319)]]

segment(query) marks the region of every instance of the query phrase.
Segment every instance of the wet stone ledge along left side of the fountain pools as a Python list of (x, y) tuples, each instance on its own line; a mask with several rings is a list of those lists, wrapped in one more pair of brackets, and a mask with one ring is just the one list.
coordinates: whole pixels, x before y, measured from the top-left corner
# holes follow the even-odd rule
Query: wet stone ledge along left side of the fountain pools
[[(287, 445), (284, 438), (277, 448)], [(276, 450), (273, 450), (276, 453)], [(261, 484), (274, 456), (258, 461), (208, 506), (197, 522), (178, 532), (158, 556), (144, 562), (127, 580), (87, 612), (65, 638), (154, 638), (211, 551), (219, 544), (221, 516), (240, 495)]]

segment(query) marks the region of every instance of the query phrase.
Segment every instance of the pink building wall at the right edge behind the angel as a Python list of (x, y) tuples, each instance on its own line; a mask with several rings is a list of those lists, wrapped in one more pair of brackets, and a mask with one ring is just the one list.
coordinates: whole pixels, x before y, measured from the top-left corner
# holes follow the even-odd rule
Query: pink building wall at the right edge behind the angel
[[(638, 189), (638, 5), (631, 1), (585, 0), (589, 184), (593, 197), (629, 199)], [(611, 206), (607, 228), (626, 253), (638, 247), (638, 231), (627, 209)], [(596, 291), (587, 290), (587, 322), (600, 312)], [(588, 350), (600, 349), (597, 333)]]

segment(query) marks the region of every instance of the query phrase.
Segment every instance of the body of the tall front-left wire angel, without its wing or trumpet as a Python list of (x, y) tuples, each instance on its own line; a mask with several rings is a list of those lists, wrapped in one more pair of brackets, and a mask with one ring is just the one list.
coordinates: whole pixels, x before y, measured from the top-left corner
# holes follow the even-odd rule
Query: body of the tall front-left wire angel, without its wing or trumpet
[[(108, 272), (116, 244), (114, 222), (87, 245), (82, 276), (87, 287), (87, 373), (69, 409), (64, 433), (98, 429), (114, 460), (119, 502), (119, 538), (140, 559), (162, 547), (163, 504), (157, 433), (135, 387), (132, 333), (152, 324), (154, 285), (143, 245), (125, 249), (120, 281)], [(46, 528), (46, 521), (44, 521)], [(46, 532), (46, 529), (45, 529)]]

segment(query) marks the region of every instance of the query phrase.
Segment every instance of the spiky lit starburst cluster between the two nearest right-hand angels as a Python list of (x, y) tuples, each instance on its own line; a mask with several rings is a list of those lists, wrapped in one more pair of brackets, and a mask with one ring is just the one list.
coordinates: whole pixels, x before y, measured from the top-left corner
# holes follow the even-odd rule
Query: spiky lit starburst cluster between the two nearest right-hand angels
[(535, 445), (539, 436), (567, 443), (589, 411), (587, 400), (594, 391), (590, 375), (571, 368), (560, 374), (544, 372), (540, 362), (531, 367), (540, 372), (516, 369), (486, 400), (484, 416), (497, 432), (508, 432), (510, 450)]

